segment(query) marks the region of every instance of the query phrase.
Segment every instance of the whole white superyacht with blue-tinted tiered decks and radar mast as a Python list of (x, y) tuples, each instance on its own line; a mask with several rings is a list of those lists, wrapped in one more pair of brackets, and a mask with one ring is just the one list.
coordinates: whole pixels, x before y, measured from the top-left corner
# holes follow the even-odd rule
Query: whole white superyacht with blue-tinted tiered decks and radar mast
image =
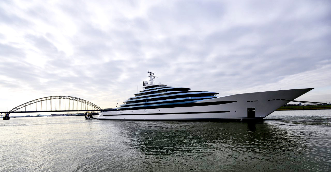
[(105, 120), (252, 120), (263, 119), (313, 88), (266, 91), (218, 97), (215, 92), (170, 87), (149, 73), (142, 90), (117, 108), (105, 109)]

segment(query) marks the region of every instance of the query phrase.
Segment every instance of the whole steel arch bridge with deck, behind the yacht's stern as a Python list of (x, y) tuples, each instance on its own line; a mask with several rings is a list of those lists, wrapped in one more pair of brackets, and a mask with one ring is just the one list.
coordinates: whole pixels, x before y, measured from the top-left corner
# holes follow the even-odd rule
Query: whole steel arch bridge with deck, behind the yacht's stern
[(72, 111), (102, 111), (102, 109), (87, 101), (71, 96), (49, 96), (31, 100), (3, 113), (31, 113), (31, 112), (72, 112)]

